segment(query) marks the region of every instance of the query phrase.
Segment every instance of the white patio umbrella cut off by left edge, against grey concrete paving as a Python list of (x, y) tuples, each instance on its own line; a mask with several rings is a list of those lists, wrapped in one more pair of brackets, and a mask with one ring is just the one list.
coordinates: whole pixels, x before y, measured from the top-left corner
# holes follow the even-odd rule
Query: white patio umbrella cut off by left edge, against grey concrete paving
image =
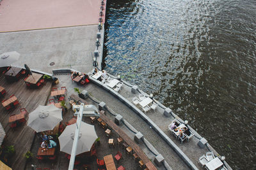
[(19, 60), (20, 54), (17, 52), (6, 52), (0, 55), (0, 67), (8, 67), (17, 60)]

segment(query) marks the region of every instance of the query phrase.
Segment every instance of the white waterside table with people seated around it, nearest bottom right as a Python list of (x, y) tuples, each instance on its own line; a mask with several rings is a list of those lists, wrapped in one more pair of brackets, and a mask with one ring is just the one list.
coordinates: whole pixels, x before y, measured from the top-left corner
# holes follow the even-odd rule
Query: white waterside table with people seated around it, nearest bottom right
[(181, 143), (185, 140), (189, 141), (189, 139), (195, 135), (185, 124), (182, 124), (177, 119), (174, 119), (172, 123), (168, 125), (168, 129)]

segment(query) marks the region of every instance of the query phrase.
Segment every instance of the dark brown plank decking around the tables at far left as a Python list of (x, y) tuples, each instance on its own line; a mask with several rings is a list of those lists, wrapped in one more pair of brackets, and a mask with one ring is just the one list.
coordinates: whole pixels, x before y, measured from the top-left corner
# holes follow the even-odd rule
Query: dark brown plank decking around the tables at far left
[(23, 155), (30, 150), (35, 137), (35, 131), (24, 124), (16, 127), (15, 129), (11, 129), (8, 120), (10, 115), (19, 114), (20, 108), (26, 108), (26, 110), (31, 113), (31, 111), (35, 110), (37, 106), (45, 105), (51, 92), (52, 83), (45, 82), (44, 86), (39, 89), (29, 89), (26, 87), (23, 79), (9, 83), (2, 75), (0, 77), (0, 86), (6, 89), (6, 95), (3, 99), (8, 99), (12, 94), (14, 94), (20, 103), (15, 110), (11, 111), (6, 111), (1, 104), (0, 122), (6, 132), (3, 145), (14, 145), (15, 147), (15, 155), (10, 161), (8, 161), (9, 166), (12, 167), (13, 170), (24, 169), (26, 166), (26, 159), (24, 159)]

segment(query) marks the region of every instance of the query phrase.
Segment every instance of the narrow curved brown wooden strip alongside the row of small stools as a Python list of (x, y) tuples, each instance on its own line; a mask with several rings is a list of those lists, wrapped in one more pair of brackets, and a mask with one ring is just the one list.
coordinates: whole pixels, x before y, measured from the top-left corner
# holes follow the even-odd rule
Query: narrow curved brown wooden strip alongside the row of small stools
[[(104, 111), (100, 111), (100, 118), (102, 118), (102, 120), (104, 120), (104, 122), (106, 122), (109, 127), (111, 127), (116, 133), (118, 133), (118, 135), (121, 138), (123, 138), (129, 146), (132, 147), (132, 150), (134, 150), (134, 152), (137, 153), (137, 155), (144, 162), (144, 164), (150, 162), (150, 160), (148, 159), (147, 155), (145, 155), (143, 150), (141, 150), (141, 148), (136, 143), (134, 143), (134, 141), (127, 134), (125, 134), (125, 132), (122, 129), (120, 129), (120, 127), (118, 127), (112, 120), (110, 120), (106, 115), (104, 115)], [(151, 169), (156, 169), (156, 167), (152, 165)]]

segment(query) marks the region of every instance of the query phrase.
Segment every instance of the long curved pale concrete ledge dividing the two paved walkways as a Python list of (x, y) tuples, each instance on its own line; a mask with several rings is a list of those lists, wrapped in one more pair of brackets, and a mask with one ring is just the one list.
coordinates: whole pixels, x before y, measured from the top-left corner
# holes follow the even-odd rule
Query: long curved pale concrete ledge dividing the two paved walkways
[(120, 95), (118, 92), (115, 92), (113, 89), (109, 88), (101, 81), (95, 80), (94, 78), (90, 78), (90, 80), (96, 85), (103, 87), (105, 90), (108, 90), (111, 94), (113, 94), (113, 96), (116, 96), (120, 101), (124, 102), (129, 108), (131, 108), (131, 110), (140, 115), (140, 117), (143, 118), (143, 120), (145, 120), (164, 139), (164, 141), (166, 141), (168, 145), (173, 148), (173, 150), (191, 169), (198, 169), (195, 164), (193, 164), (193, 162), (185, 155), (185, 153), (182, 152), (182, 150), (180, 150), (180, 148), (175, 143), (173, 143), (172, 139), (170, 139), (154, 122), (152, 122), (152, 120), (150, 120), (147, 115), (145, 115), (141, 110), (134, 106), (134, 104), (125, 99), (125, 97)]

